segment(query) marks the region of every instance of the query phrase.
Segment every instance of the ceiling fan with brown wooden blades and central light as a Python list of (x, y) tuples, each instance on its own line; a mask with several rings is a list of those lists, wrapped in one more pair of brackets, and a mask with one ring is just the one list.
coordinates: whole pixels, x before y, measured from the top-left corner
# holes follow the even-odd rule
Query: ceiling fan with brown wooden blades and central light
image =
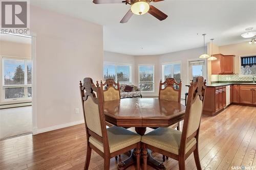
[(153, 5), (149, 5), (151, 2), (160, 2), (164, 0), (93, 0), (94, 4), (129, 4), (131, 9), (124, 15), (120, 23), (127, 22), (133, 14), (143, 15), (145, 13), (150, 13), (159, 20), (164, 20), (167, 15), (155, 8)]

